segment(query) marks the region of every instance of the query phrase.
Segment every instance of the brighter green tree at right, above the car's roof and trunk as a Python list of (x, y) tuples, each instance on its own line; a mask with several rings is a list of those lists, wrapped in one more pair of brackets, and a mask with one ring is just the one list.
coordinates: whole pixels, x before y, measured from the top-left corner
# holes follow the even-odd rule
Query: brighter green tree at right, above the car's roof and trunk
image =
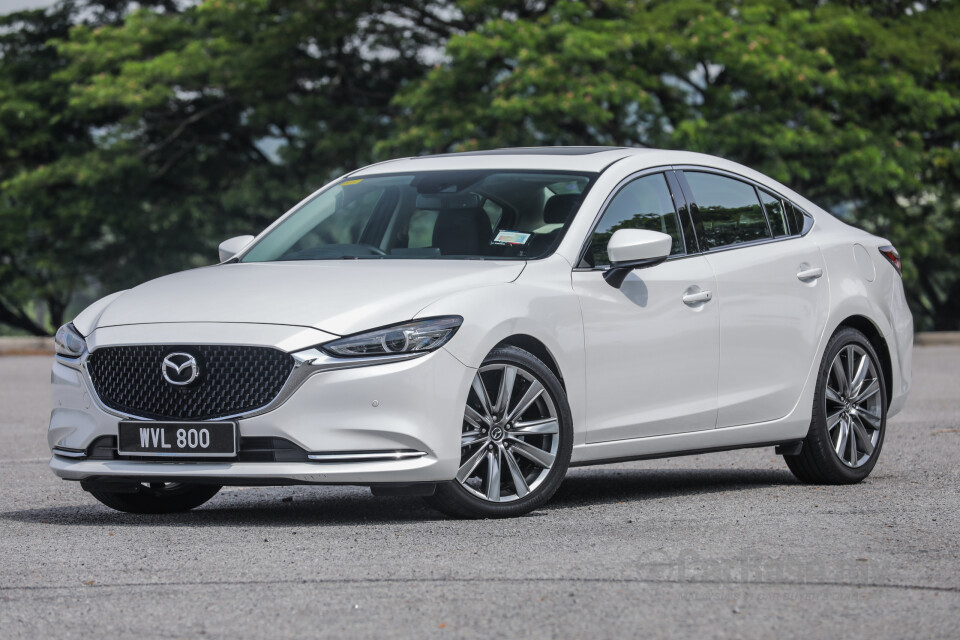
[(918, 327), (958, 329), (958, 32), (951, 2), (547, 3), (452, 37), (379, 151), (728, 157), (889, 236)]

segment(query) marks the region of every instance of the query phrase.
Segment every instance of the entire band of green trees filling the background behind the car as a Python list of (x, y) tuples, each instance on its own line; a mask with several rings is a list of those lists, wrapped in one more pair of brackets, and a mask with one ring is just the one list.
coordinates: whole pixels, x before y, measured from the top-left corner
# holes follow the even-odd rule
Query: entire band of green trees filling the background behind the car
[[(960, 328), (960, 6), (66, 1), (0, 18), (0, 324), (215, 255), (335, 175), (513, 145), (686, 148), (890, 237)], [(43, 313), (35, 309), (42, 304)]]

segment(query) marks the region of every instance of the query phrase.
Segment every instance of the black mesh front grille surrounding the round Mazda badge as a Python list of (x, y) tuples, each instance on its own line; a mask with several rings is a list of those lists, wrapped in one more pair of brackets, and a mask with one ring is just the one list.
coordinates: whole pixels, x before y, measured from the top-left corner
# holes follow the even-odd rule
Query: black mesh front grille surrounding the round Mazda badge
[[(186, 386), (163, 377), (163, 359), (176, 352), (192, 355), (200, 370)], [(293, 370), (293, 357), (269, 347), (138, 345), (97, 349), (87, 367), (111, 409), (155, 420), (209, 420), (272, 402)]]

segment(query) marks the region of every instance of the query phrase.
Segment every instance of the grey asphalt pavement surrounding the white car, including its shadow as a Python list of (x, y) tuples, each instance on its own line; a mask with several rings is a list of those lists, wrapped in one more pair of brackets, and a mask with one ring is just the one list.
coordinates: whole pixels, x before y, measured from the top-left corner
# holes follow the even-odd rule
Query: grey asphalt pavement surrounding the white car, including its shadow
[(49, 360), (0, 357), (0, 638), (960, 635), (960, 347), (857, 486), (772, 449), (574, 469), (533, 514), (456, 521), (364, 488), (112, 511), (47, 468)]

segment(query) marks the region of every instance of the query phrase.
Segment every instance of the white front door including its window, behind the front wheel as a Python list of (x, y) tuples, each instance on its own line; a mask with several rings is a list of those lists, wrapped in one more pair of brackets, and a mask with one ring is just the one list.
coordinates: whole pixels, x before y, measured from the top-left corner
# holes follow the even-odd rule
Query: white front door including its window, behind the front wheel
[[(706, 299), (716, 281), (707, 260), (688, 253), (679, 220), (664, 175), (637, 178), (610, 201), (584, 268), (573, 272), (585, 334), (588, 442), (716, 424), (719, 317), (716, 301)], [(662, 231), (674, 244), (666, 262), (635, 270), (616, 289), (602, 269), (607, 241), (625, 228)]]

